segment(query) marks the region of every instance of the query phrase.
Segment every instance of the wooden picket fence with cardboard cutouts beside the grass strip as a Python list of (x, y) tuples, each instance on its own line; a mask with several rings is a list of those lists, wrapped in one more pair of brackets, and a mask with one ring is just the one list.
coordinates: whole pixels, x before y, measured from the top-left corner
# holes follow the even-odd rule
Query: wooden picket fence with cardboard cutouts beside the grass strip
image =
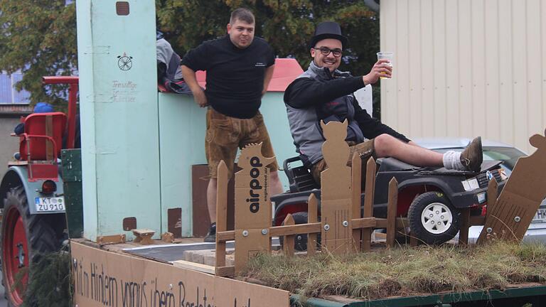
[[(248, 259), (257, 253), (271, 252), (271, 237), (284, 236), (284, 253), (294, 254), (294, 235), (308, 234), (308, 254), (316, 252), (316, 237), (321, 233), (322, 250), (333, 254), (370, 250), (370, 235), (373, 230), (387, 230), (387, 247), (395, 244), (397, 230), (404, 230), (409, 225), (406, 217), (397, 217), (398, 185), (392, 178), (388, 189), (387, 218), (373, 217), (373, 199), (375, 194), (376, 163), (370, 158), (366, 163), (365, 198), (361, 210), (360, 181), (361, 160), (355, 154), (352, 167), (347, 166), (349, 147), (346, 138), (347, 122), (321, 123), (326, 141), (323, 144), (323, 156), (329, 166), (321, 173), (321, 222), (319, 220), (318, 201), (311, 193), (308, 200), (307, 224), (293, 225), (294, 219), (288, 215), (284, 225), (271, 227), (271, 203), (267, 193), (268, 171), (266, 166), (273, 158), (261, 154), (261, 144), (253, 144), (242, 150), (240, 167), (235, 174), (236, 203), (235, 230), (225, 231), (225, 199), (227, 181), (225, 165), (218, 167), (218, 234), (215, 273), (221, 276), (237, 274)], [(535, 135), (531, 144), (539, 150), (528, 158), (522, 158), (516, 164), (510, 180), (497, 200), (497, 183), (491, 179), (488, 188), (488, 214), (486, 217), (470, 215), (470, 208), (461, 209), (459, 244), (467, 244), (469, 227), (484, 225), (484, 234), (478, 242), (486, 238), (503, 237), (522, 239), (540, 201), (546, 195), (546, 141), (544, 136)], [(530, 183), (536, 183), (532, 185)], [(360, 216), (360, 213), (363, 213)], [(510, 234), (509, 236), (506, 234)], [(410, 235), (410, 244), (418, 240)], [(225, 242), (235, 239), (235, 266), (225, 266)]]

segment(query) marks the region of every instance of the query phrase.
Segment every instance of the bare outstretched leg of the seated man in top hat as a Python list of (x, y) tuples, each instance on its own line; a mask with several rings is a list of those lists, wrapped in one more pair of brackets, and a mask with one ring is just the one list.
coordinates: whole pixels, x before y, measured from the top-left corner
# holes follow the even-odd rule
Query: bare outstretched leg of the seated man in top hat
[(374, 139), (375, 154), (378, 158), (393, 157), (414, 166), (443, 166), (443, 154), (424, 149), (415, 144), (407, 144), (389, 134), (381, 134)]

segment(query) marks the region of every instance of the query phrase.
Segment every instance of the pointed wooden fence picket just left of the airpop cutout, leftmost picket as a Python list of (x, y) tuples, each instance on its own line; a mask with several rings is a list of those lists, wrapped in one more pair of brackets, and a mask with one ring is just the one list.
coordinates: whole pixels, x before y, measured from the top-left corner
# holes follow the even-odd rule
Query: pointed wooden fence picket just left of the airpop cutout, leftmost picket
[[(228, 230), (228, 167), (222, 160), (218, 163), (216, 179), (216, 266), (225, 266), (225, 240), (220, 239), (219, 232)], [(235, 237), (235, 232), (234, 232)]]

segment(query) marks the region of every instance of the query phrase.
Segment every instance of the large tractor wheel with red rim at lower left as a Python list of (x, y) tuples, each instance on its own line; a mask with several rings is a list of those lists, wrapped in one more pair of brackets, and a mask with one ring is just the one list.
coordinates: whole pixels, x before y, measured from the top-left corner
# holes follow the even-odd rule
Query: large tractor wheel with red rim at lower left
[[(41, 254), (60, 248), (55, 228), (64, 216), (31, 215), (22, 187), (12, 188), (4, 201), (1, 230), (2, 281), (9, 306), (21, 306), (28, 284), (28, 268)], [(57, 225), (55, 225), (55, 224)]]

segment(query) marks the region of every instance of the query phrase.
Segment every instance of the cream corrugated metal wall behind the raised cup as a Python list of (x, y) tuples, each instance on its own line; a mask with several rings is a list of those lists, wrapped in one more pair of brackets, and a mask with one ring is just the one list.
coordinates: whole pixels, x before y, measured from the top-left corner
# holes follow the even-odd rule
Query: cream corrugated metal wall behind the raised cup
[(546, 127), (546, 1), (382, 0), (382, 121), (410, 137), (478, 136), (529, 153)]

